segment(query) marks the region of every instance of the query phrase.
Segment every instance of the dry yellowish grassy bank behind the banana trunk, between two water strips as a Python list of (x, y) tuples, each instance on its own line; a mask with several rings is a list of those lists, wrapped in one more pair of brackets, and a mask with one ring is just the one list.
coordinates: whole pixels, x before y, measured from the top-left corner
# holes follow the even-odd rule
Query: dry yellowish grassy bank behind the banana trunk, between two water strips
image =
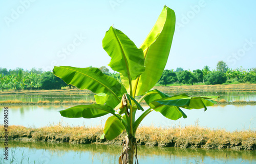
[[(4, 140), (4, 126), (0, 127), (0, 139)], [(73, 144), (113, 144), (121, 145), (125, 132), (115, 140), (100, 140), (102, 127), (70, 127), (47, 126), (42, 128), (27, 128), (24, 126), (9, 126), (8, 136), (11, 140), (32, 142), (69, 142)], [(207, 149), (237, 149), (255, 150), (256, 131), (211, 130), (198, 126), (184, 128), (140, 127), (136, 134), (138, 145), (207, 148)]]

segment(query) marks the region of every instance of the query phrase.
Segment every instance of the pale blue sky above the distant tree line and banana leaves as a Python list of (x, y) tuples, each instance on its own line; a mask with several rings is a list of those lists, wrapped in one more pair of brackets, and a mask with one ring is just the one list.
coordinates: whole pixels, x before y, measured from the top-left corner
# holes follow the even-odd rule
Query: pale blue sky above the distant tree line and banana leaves
[(163, 6), (176, 13), (165, 69), (256, 67), (256, 1), (1, 1), (0, 67), (51, 70), (107, 66), (102, 48), (114, 24), (139, 47)]

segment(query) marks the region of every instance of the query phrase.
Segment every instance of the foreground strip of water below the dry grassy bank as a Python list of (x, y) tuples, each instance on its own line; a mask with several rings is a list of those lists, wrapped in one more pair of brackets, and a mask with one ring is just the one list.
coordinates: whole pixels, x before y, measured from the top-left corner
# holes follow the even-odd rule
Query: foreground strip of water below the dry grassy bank
[[(4, 144), (0, 142), (3, 152)], [(14, 163), (118, 163), (121, 146), (9, 141)], [(3, 155), (1, 158), (3, 162)], [(139, 163), (255, 163), (256, 151), (138, 146)], [(5, 163), (9, 163), (6, 162)]]

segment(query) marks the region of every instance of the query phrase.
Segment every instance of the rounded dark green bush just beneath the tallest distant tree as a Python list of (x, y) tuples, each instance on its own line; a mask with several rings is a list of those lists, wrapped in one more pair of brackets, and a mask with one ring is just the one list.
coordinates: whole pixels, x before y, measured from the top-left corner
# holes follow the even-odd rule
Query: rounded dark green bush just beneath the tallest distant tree
[(204, 77), (205, 84), (207, 85), (223, 84), (226, 80), (227, 76), (221, 71), (210, 72)]

